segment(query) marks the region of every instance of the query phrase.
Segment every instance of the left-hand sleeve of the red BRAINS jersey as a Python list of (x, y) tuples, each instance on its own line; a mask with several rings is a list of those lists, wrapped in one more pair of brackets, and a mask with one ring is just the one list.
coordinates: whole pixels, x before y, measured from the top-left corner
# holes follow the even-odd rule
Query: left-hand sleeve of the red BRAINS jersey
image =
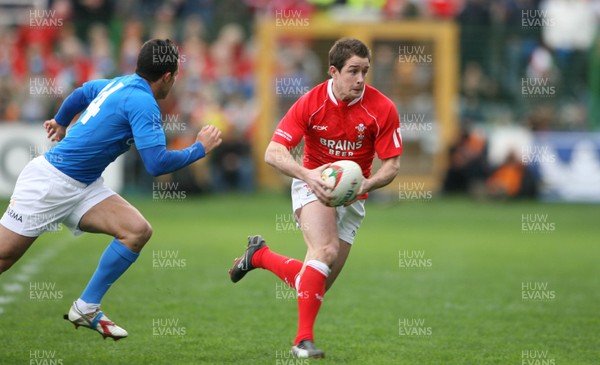
[(308, 94), (304, 94), (281, 119), (271, 141), (292, 149), (300, 143), (308, 125)]

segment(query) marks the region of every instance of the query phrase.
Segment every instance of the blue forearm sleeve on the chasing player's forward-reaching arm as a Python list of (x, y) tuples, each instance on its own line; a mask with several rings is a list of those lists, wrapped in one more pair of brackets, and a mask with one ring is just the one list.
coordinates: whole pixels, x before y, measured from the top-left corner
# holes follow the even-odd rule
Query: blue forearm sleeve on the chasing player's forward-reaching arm
[(139, 150), (146, 170), (152, 176), (168, 174), (197, 161), (206, 155), (202, 143), (196, 142), (183, 150), (167, 151), (165, 146)]

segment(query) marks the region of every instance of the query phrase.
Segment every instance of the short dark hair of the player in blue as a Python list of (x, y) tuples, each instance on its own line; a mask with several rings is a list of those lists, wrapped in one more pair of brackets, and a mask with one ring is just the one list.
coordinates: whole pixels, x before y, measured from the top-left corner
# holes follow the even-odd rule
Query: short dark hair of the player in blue
[(170, 39), (151, 39), (142, 45), (135, 73), (148, 81), (156, 81), (179, 67), (179, 50)]

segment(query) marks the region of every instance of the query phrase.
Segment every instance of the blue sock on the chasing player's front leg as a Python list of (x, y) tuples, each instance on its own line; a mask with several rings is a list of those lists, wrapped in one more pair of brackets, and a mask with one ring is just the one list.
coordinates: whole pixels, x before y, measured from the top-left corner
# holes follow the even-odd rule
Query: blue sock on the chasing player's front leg
[[(87, 287), (81, 294), (80, 299), (85, 302), (83, 306), (88, 309), (93, 308), (94, 305), (99, 306), (102, 297), (104, 297), (110, 286), (123, 275), (139, 255), (139, 253), (131, 251), (116, 238), (113, 239), (106, 250), (104, 250), (94, 275), (92, 275)], [(78, 307), (79, 304), (83, 304), (80, 301), (77, 303)], [(80, 308), (80, 310), (83, 310), (83, 308)]]

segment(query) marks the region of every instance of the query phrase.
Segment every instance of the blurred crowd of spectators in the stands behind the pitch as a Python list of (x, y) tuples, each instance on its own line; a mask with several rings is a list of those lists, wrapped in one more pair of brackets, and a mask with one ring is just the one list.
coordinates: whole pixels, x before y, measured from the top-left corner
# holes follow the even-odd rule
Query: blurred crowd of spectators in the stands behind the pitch
[[(250, 141), (258, 117), (254, 19), (294, 9), (305, 17), (355, 11), (388, 21), (453, 19), (461, 29), (459, 119), (467, 135), (471, 126), (494, 123), (531, 130), (598, 127), (592, 121), (600, 118), (600, 4), (591, 0), (49, 1), (46, 13), (0, 25), (0, 121), (39, 124), (86, 80), (133, 73), (144, 40), (171, 38), (182, 58), (172, 95), (160, 103), (170, 147), (189, 145), (203, 124), (225, 132), (225, 144), (209, 162), (212, 181), (205, 169), (186, 170), (178, 179), (189, 181), (188, 191), (251, 191)], [(373, 51), (374, 62), (385, 58), (385, 47)], [(279, 60), (277, 73), (301, 73), (296, 79), (303, 84), (296, 86), (303, 90), (323, 79), (325, 65), (309, 42), (282, 45)], [(553, 91), (527, 97), (524, 78), (546, 80)], [(385, 82), (375, 75), (375, 86), (393, 86)], [(282, 112), (295, 100), (277, 97)], [(463, 133), (453, 151), (464, 141)], [(128, 158), (128, 178), (144, 179), (136, 157)]]

